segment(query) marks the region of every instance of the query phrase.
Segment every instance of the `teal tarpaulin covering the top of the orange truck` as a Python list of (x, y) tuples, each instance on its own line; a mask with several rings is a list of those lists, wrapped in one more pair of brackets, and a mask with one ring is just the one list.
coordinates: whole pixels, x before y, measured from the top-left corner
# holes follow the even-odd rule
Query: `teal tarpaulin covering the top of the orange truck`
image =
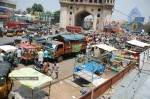
[(64, 41), (75, 41), (75, 40), (84, 40), (85, 39), (85, 36), (83, 36), (81, 34), (72, 34), (72, 35), (61, 34), (59, 36), (61, 36), (64, 39)]

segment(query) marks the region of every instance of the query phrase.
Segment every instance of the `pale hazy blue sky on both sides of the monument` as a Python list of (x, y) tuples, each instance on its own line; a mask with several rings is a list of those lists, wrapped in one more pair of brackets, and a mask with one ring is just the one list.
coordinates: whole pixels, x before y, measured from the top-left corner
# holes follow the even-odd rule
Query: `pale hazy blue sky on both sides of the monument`
[[(60, 9), (59, 0), (9, 0), (17, 3), (17, 9), (26, 10), (27, 7), (32, 7), (34, 3), (41, 4), (45, 11), (55, 12)], [(145, 17), (145, 22), (149, 21), (150, 16), (150, 0), (115, 0), (115, 9), (128, 15), (129, 12), (137, 7), (142, 16)], [(127, 16), (114, 11), (111, 20), (126, 20)]]

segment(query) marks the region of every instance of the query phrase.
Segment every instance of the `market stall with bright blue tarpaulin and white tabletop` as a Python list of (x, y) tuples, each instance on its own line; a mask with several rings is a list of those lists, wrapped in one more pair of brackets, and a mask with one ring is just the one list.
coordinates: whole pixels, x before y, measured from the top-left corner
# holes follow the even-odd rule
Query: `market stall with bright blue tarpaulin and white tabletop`
[[(74, 72), (73, 76), (74, 79), (76, 78), (82, 78), (85, 79), (88, 82), (93, 82), (96, 79), (101, 78), (101, 72), (105, 70), (105, 65), (100, 63), (99, 60), (96, 60), (97, 58), (90, 57), (90, 56), (84, 56), (83, 61), (81, 57), (75, 58), (75, 64), (74, 64)], [(82, 65), (78, 65), (78, 63), (81, 63)]]

